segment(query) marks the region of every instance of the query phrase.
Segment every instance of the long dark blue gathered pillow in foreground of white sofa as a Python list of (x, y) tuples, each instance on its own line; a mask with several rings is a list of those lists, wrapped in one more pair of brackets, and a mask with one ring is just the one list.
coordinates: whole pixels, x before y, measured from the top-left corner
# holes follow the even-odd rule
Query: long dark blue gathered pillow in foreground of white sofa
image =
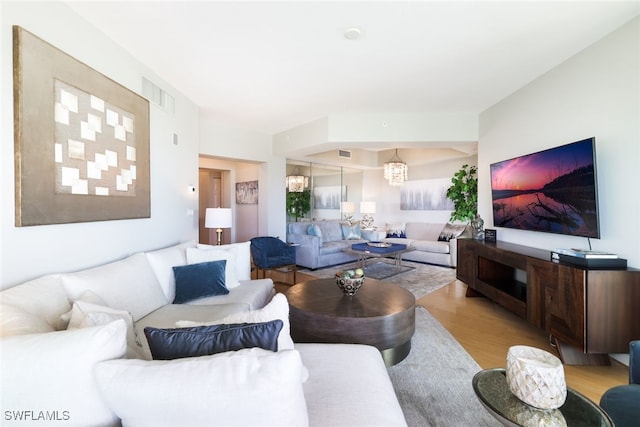
[(147, 326), (144, 335), (154, 360), (207, 356), (225, 351), (260, 347), (278, 351), (278, 335), (283, 322), (275, 319), (263, 323), (194, 326), (158, 329)]

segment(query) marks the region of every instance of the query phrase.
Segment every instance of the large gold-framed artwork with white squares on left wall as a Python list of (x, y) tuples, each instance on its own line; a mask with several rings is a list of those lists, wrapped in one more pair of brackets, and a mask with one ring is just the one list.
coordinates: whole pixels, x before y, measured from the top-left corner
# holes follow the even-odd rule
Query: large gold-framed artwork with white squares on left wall
[(149, 218), (149, 102), (13, 27), (16, 226)]

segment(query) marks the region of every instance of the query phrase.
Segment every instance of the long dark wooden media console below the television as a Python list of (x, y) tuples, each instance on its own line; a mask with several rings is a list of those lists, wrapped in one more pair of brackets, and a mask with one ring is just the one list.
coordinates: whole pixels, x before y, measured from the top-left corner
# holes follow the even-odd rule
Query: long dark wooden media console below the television
[(549, 332), (568, 365), (609, 364), (640, 339), (640, 270), (588, 269), (549, 251), (458, 239), (456, 277), (467, 297), (485, 296)]

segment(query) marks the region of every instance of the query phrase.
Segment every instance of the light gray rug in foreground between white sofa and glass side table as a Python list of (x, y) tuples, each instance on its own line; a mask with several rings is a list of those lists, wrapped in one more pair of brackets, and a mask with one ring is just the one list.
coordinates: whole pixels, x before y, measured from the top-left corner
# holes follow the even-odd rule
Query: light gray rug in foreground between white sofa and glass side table
[(416, 307), (411, 352), (389, 376), (409, 427), (500, 426), (476, 398), (480, 366), (424, 307)]

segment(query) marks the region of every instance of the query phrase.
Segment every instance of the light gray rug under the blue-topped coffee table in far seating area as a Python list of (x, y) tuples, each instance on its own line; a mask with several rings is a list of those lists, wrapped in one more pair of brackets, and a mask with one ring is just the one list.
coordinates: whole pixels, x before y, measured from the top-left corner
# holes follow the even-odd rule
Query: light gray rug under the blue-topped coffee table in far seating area
[[(413, 267), (412, 270), (405, 271), (403, 273), (397, 274), (395, 276), (388, 277), (383, 279), (385, 282), (392, 283), (394, 285), (398, 285), (401, 288), (404, 288), (415, 295), (416, 299), (423, 297), (437, 289), (442, 288), (443, 286), (448, 285), (452, 281), (456, 279), (456, 270), (455, 268), (442, 267), (438, 265), (431, 264), (422, 264), (419, 262), (411, 262), (411, 261), (402, 261), (403, 266)], [(358, 267), (358, 264), (355, 262), (341, 265), (334, 265), (332, 267), (317, 269), (317, 270), (307, 270), (301, 269), (299, 271), (309, 274), (311, 276), (319, 277), (319, 278), (330, 278), (335, 276), (337, 271), (347, 270), (347, 269), (355, 269)], [(393, 265), (391, 268), (395, 268)], [(367, 270), (365, 269), (365, 277), (367, 275)], [(366, 286), (365, 279), (365, 286)]]

